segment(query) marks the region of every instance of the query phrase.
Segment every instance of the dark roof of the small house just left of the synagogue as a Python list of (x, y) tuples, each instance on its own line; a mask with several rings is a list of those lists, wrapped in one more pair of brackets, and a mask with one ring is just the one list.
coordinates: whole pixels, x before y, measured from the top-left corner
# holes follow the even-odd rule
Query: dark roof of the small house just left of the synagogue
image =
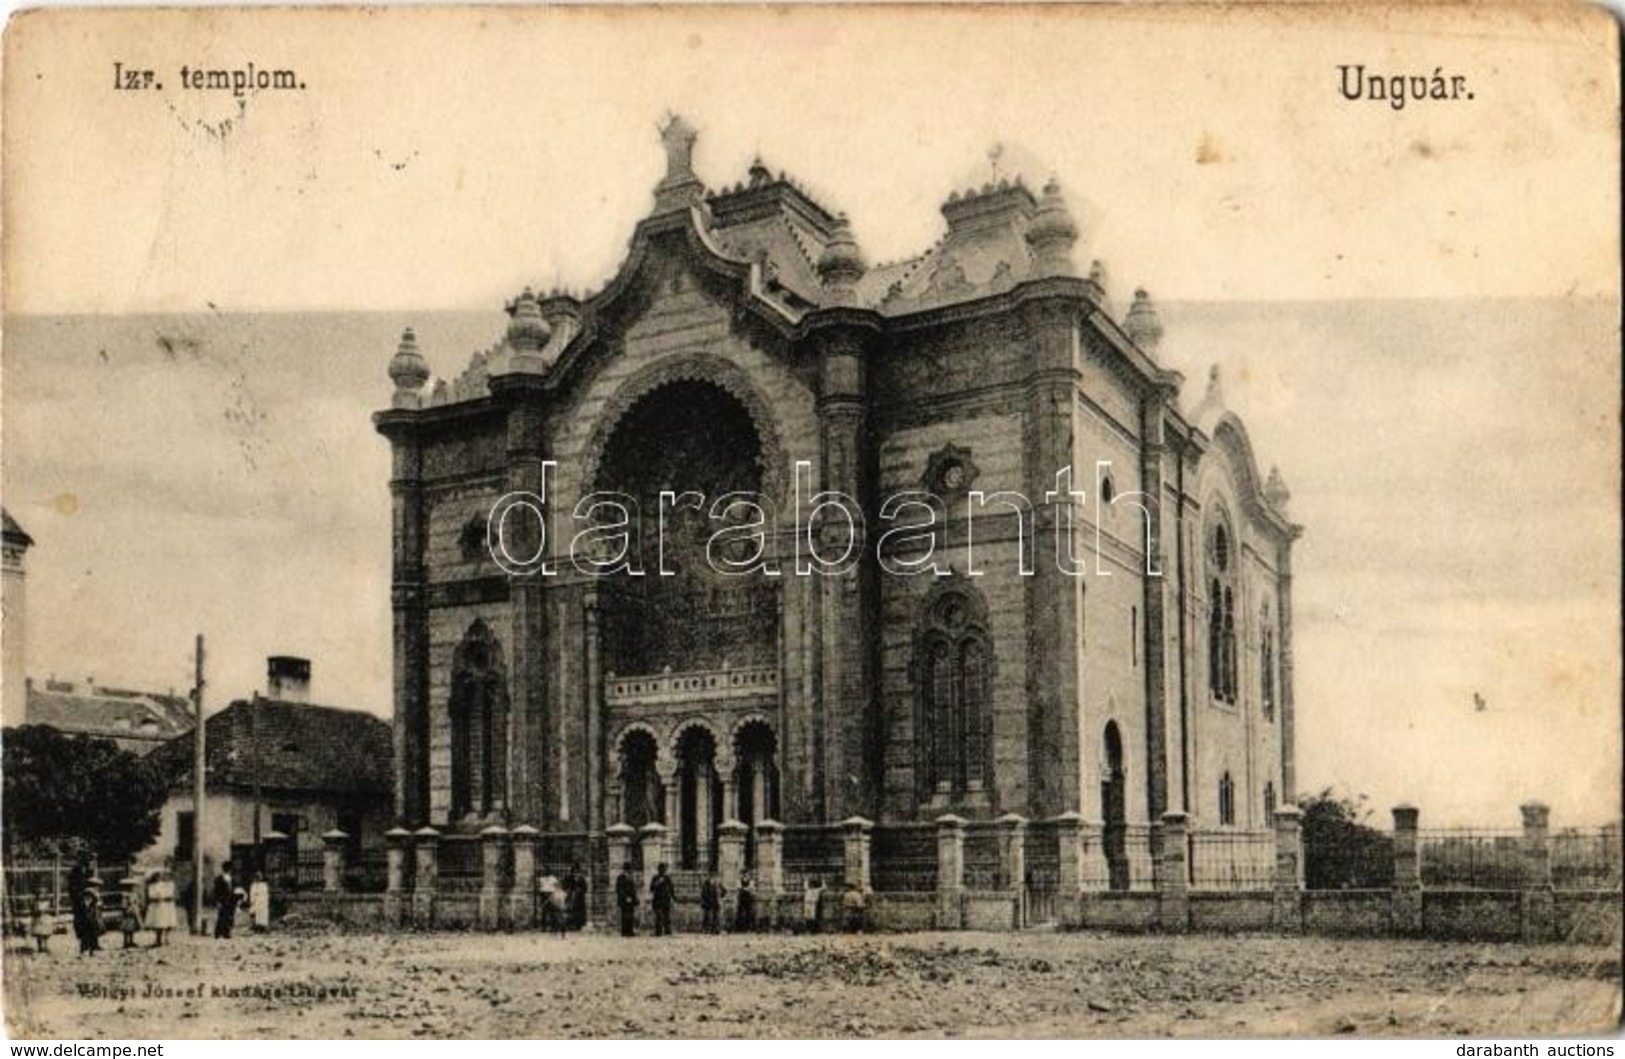
[[(388, 794), (388, 723), (359, 710), (275, 698), (237, 700), (203, 721), (210, 788)], [(192, 739), (153, 754), (171, 783), (192, 776)]]

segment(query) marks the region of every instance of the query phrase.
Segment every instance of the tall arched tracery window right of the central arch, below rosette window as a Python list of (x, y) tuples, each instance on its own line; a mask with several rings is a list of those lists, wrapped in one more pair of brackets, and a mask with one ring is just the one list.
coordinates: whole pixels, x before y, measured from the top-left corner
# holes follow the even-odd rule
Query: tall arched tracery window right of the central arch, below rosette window
[(952, 802), (986, 789), (991, 656), (980, 601), (944, 591), (920, 630), (918, 788)]

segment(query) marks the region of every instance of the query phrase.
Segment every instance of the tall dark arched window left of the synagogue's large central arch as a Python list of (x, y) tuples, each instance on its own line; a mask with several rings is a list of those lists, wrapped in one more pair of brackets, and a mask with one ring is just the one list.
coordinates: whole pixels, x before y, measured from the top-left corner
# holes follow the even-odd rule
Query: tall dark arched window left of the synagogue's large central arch
[(504, 809), (507, 668), (491, 627), (476, 620), (452, 655), (452, 820)]

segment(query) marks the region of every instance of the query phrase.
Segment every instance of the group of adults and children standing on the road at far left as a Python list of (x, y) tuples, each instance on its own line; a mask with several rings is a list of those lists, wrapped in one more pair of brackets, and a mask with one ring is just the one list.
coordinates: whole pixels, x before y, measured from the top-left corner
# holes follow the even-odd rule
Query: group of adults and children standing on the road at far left
[[(104, 882), (96, 877), (89, 859), (81, 858), (68, 871), (68, 908), (73, 916), (73, 937), (80, 944), (80, 955), (101, 952), (102, 934), (117, 932), (124, 937), (124, 949), (135, 947), (135, 936), (148, 931), (153, 936), (153, 947), (161, 947), (169, 932), (179, 926), (180, 911), (176, 892), (176, 875), (166, 866), (148, 872), (145, 879), (132, 875), (120, 884), (122, 893), (117, 901), (102, 898)], [(237, 919), (237, 910), (244, 908), (255, 931), (265, 931), (271, 921), (270, 885), (263, 874), (255, 874), (247, 892), (232, 880), (231, 861), (221, 866), (214, 879), (214, 937), (231, 937)], [(39, 895), (28, 926), (34, 939), (36, 952), (46, 952), (52, 934), (57, 932), (57, 919), (52, 914), (50, 898)]]

